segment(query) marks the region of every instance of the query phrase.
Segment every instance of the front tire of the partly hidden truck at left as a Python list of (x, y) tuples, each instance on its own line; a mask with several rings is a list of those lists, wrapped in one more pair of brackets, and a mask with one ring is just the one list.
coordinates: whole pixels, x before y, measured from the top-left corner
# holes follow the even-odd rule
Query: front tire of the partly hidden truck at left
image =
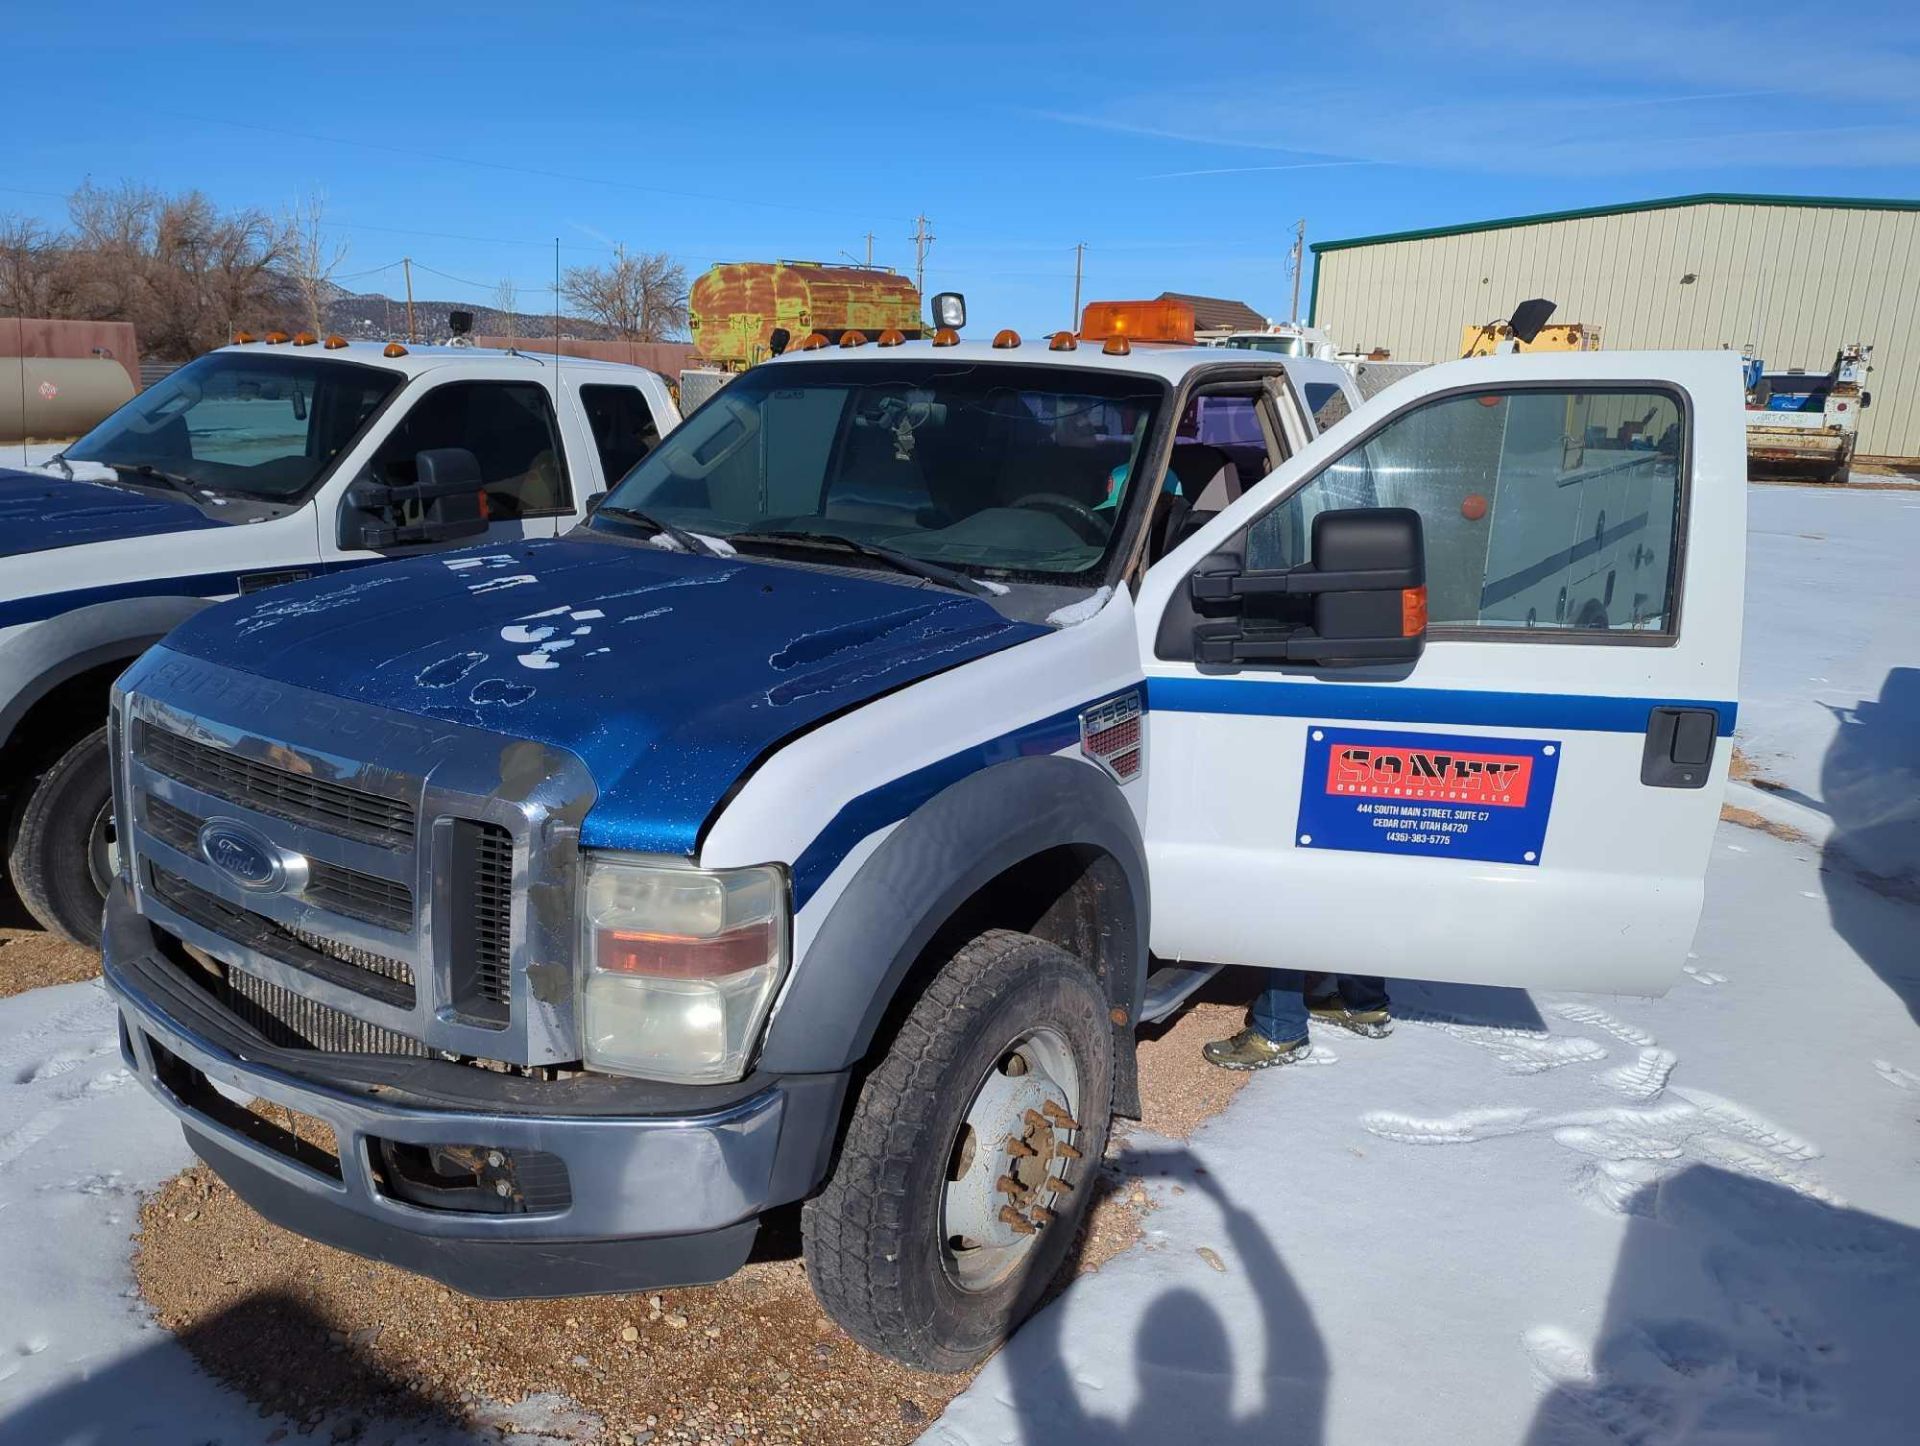
[(100, 947), (113, 881), (113, 772), (108, 730), (69, 747), (19, 807), (8, 845), (19, 901), (50, 933)]

